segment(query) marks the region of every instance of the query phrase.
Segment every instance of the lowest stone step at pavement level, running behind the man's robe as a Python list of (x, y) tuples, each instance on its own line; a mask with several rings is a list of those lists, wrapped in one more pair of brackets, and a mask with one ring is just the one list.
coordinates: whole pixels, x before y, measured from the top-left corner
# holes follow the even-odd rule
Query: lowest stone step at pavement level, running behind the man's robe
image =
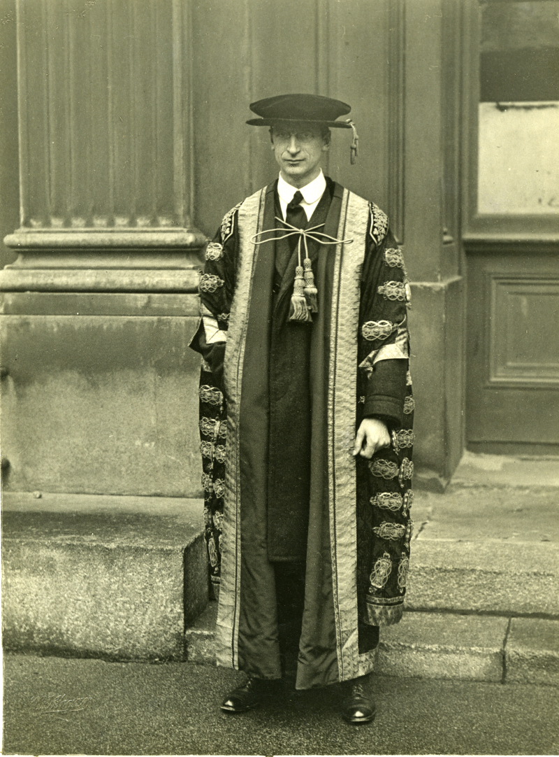
[[(186, 631), (189, 662), (215, 665), (217, 603)], [(406, 612), (380, 631), (375, 671), (402, 678), (559, 686), (559, 621)]]

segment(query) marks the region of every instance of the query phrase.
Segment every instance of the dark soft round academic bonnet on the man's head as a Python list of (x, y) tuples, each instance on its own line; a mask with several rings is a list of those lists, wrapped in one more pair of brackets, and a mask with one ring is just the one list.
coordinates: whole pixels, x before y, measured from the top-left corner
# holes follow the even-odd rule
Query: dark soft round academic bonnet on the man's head
[(341, 100), (322, 95), (276, 95), (250, 103), (250, 110), (260, 118), (247, 121), (250, 126), (274, 126), (276, 123), (314, 123), (334, 129), (351, 129), (351, 124), (337, 121), (351, 111)]

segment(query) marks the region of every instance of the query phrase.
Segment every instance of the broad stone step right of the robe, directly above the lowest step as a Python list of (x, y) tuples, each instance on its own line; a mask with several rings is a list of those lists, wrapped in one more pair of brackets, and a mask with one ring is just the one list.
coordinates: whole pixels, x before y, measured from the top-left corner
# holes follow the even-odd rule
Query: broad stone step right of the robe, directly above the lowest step
[(559, 618), (559, 491), (418, 492), (406, 605)]

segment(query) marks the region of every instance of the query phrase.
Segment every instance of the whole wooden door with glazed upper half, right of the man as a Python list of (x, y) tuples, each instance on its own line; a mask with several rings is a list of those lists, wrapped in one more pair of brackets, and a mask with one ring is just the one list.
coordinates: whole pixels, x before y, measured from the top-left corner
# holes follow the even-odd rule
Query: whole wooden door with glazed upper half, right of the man
[(466, 435), (559, 452), (559, 2), (468, 5)]

